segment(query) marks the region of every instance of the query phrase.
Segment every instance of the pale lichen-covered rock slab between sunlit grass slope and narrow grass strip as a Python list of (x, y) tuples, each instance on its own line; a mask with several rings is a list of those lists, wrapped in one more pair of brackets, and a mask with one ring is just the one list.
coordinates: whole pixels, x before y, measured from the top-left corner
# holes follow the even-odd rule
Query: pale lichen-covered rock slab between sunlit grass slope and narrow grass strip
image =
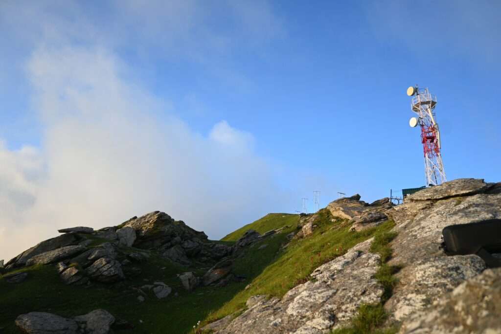
[(315, 281), (300, 284), (282, 299), (259, 297), (218, 333), (322, 333), (348, 323), (362, 303), (378, 302), (383, 287), (374, 274), (379, 255), (365, 241), (313, 273)]

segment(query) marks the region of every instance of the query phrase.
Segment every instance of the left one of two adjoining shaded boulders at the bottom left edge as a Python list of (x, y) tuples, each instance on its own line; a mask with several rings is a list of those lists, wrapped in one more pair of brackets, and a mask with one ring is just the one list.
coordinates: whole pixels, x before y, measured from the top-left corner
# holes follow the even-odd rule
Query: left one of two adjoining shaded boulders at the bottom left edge
[(30, 334), (77, 334), (78, 324), (47, 312), (30, 312), (16, 318), (16, 325)]

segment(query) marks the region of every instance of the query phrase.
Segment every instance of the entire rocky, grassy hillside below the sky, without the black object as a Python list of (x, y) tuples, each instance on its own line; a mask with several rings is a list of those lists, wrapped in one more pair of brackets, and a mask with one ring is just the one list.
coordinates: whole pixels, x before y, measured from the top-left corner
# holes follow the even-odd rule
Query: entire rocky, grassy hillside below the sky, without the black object
[(0, 260), (0, 333), (501, 333), (501, 268), (441, 238), (493, 218), (501, 183), (457, 179), (221, 240), (161, 211), (64, 228)]

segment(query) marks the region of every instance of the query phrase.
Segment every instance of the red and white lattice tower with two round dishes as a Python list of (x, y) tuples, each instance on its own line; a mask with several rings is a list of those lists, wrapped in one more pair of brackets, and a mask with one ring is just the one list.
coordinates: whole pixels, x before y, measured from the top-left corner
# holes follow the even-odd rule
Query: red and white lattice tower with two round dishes
[(447, 181), (443, 170), (442, 155), (440, 154), (440, 132), (434, 112), (437, 104), (436, 95), (431, 95), (427, 88), (409, 87), (407, 95), (412, 96), (411, 109), (417, 114), (409, 121), (411, 127), (421, 127), (421, 143), (424, 153), (424, 171), (426, 186), (439, 185)]

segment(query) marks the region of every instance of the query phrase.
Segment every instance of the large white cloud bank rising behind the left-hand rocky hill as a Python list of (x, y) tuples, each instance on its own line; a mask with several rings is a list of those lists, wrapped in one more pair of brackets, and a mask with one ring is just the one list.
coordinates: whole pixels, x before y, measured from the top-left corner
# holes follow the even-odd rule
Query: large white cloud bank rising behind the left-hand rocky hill
[(221, 121), (207, 136), (123, 79), (99, 48), (41, 48), (27, 74), (42, 147), (0, 145), (0, 258), (71, 226), (117, 225), (162, 210), (219, 238), (277, 207), (270, 166), (249, 133)]

